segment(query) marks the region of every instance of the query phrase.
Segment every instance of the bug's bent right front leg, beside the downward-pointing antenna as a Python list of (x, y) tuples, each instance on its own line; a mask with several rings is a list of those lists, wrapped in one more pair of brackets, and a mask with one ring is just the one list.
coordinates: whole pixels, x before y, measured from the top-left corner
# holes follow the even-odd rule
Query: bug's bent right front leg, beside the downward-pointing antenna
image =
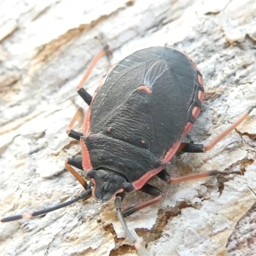
[(152, 204), (156, 204), (157, 202), (159, 202), (162, 198), (163, 198), (163, 192), (146, 183), (141, 189), (140, 191), (142, 191), (143, 193), (147, 193), (149, 195), (152, 195), (152, 196), (156, 196), (150, 200), (148, 200), (147, 202), (143, 202), (141, 204), (137, 204), (137, 205), (133, 205), (132, 207), (129, 207), (127, 209), (125, 209), (122, 214), (124, 217), (127, 217), (129, 215), (131, 215), (132, 213), (136, 212), (136, 211), (140, 211), (141, 209), (145, 208), (145, 207), (148, 207), (149, 205), (152, 205)]

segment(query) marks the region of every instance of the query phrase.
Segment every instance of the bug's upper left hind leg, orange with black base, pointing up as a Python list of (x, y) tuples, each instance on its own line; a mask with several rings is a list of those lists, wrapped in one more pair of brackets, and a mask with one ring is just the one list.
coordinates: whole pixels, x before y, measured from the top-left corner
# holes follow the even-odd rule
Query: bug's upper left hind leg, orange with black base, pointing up
[(92, 96), (86, 92), (86, 90), (84, 90), (84, 88), (82, 87), (83, 84), (86, 82), (86, 80), (88, 79), (88, 77), (90, 76), (93, 68), (95, 67), (95, 65), (97, 64), (97, 62), (103, 57), (103, 56), (109, 56), (111, 54), (111, 51), (109, 51), (109, 46), (105, 45), (103, 47), (103, 49), (98, 52), (98, 54), (93, 58), (93, 60), (91, 61), (89, 67), (87, 68), (82, 80), (80, 81), (80, 83), (77, 85), (77, 93), (81, 96), (81, 98), (84, 100), (84, 102), (86, 102), (86, 104), (88, 106), (90, 106), (91, 102), (92, 102)]

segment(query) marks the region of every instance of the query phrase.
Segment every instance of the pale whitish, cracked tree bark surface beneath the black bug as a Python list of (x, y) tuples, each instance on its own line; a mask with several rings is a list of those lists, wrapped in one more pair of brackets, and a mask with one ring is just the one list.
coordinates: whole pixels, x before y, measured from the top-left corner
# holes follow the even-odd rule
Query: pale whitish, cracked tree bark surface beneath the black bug
[[(138, 49), (169, 45), (191, 56), (204, 76), (206, 96), (187, 139), (204, 143), (256, 103), (255, 10), (255, 2), (239, 0), (1, 2), (0, 216), (50, 207), (81, 191), (64, 167), (67, 157), (80, 152), (65, 128), (78, 106), (87, 108), (76, 85), (102, 49), (98, 38), (108, 42), (113, 58), (111, 63), (102, 58), (93, 70), (84, 84), (90, 93), (112, 65)], [(248, 186), (256, 191), (255, 137), (253, 110), (211, 151), (175, 156), (167, 164), (173, 177), (209, 170), (241, 170), (241, 176), (179, 185), (152, 180), (163, 189), (164, 200), (127, 218), (152, 255), (256, 252), (255, 229), (244, 234), (236, 227), (244, 214), (249, 222), (254, 215), (248, 209), (256, 198)], [(147, 198), (131, 193), (124, 206)], [(245, 246), (236, 243), (237, 237)], [(114, 256), (136, 251), (125, 238), (113, 201), (102, 205), (90, 199), (40, 218), (1, 223), (0, 254)]]

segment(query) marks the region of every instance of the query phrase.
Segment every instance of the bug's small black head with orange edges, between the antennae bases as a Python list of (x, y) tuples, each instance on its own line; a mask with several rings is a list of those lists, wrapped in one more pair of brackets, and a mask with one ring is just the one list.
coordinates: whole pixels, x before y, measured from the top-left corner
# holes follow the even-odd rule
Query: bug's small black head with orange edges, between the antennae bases
[(106, 202), (116, 194), (124, 197), (125, 191), (133, 190), (132, 184), (120, 173), (100, 169), (89, 170), (86, 174), (92, 181), (92, 195), (97, 200)]

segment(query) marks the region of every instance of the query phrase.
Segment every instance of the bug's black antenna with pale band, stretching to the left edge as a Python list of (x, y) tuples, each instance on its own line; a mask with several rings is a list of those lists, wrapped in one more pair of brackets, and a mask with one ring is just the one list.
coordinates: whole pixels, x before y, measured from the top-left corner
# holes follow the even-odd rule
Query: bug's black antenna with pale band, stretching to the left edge
[(74, 204), (75, 202), (77, 202), (81, 199), (84, 199), (84, 198), (89, 198), (90, 196), (92, 196), (92, 189), (91, 188), (87, 189), (86, 191), (81, 193), (76, 198), (74, 198), (72, 200), (69, 200), (69, 201), (67, 201), (63, 204), (58, 204), (58, 205), (55, 205), (53, 207), (50, 207), (50, 208), (47, 208), (47, 209), (44, 209), (44, 210), (40, 210), (40, 211), (36, 211), (36, 212), (24, 213), (24, 214), (20, 214), (20, 215), (6, 217), (6, 218), (1, 219), (0, 221), (1, 222), (8, 222), (8, 221), (13, 221), (13, 220), (21, 220), (21, 219), (25, 219), (25, 218), (31, 218), (31, 217), (39, 216), (39, 215), (45, 214), (47, 212), (52, 212), (52, 211), (58, 210), (58, 209), (63, 208), (67, 205)]

